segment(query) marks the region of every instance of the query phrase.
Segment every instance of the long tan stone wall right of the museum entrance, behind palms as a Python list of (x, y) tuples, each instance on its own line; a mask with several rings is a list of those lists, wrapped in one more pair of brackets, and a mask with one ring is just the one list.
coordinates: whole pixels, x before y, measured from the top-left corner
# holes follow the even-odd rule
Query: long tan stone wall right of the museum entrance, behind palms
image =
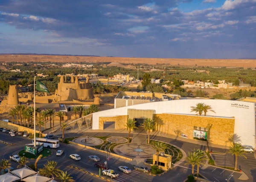
[(160, 131), (176, 136), (178, 134), (178, 137), (186, 134), (189, 139), (193, 139), (194, 126), (206, 127), (210, 123), (212, 124), (210, 141), (218, 145), (230, 146), (228, 140), (234, 134), (235, 118), (155, 114), (155, 119), (162, 122)]

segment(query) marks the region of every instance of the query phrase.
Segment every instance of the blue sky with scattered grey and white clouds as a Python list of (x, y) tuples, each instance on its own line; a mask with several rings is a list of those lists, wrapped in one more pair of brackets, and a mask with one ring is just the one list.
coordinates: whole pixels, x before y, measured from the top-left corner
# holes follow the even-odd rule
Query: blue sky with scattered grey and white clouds
[(256, 58), (256, 0), (0, 0), (0, 53)]

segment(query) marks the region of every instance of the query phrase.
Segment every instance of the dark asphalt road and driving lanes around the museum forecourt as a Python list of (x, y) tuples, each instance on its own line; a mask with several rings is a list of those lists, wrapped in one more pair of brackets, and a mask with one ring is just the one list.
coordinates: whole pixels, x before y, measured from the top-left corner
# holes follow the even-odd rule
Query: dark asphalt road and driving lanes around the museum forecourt
[[(84, 136), (87, 136), (89, 134), (90, 137), (93, 136), (119, 136), (119, 137), (127, 137), (127, 134), (124, 133), (85, 133)], [(65, 134), (65, 137), (77, 137), (77, 136), (82, 136), (83, 134), (73, 134), (73, 133), (68, 133)], [(15, 137), (10, 137), (9, 134), (1, 134), (0, 133), (0, 139), (6, 141), (6, 142), (12, 142), (15, 143), (15, 145), (5, 145), (0, 143), (1, 151), (0, 152), (0, 159), (9, 159), (10, 155), (17, 154), (18, 151), (22, 150), (24, 148), (24, 144), (26, 143), (32, 143), (32, 140), (20, 137), (20, 136), (15, 136)], [(169, 142), (172, 145), (176, 145), (180, 148), (182, 148), (186, 153), (189, 151), (192, 151), (194, 148), (200, 148), (204, 150), (205, 146), (203, 145), (196, 145), (188, 142), (182, 142), (178, 141), (175, 139), (169, 139), (165, 137), (158, 137), (154, 136), (153, 139), (161, 140), (164, 142)], [(62, 156), (55, 156), (55, 153), (57, 150), (64, 150), (64, 154)], [(53, 154), (45, 159), (41, 159), (38, 162), (38, 168), (43, 168), (44, 164), (47, 162), (47, 160), (55, 160), (58, 162), (58, 166), (61, 170), (63, 171), (68, 171), (73, 176), (73, 179), (76, 180), (76, 182), (102, 182), (106, 181), (100, 178), (97, 178), (96, 176), (91, 176), (90, 174), (83, 173), (82, 171), (79, 171), (75, 168), (70, 168), (68, 166), (70, 165), (76, 165), (80, 168), (84, 168), (87, 171), (91, 171), (93, 173), (99, 173), (99, 168), (94, 167), (93, 161), (87, 159), (89, 155), (93, 155), (93, 153), (90, 153), (88, 151), (82, 151), (77, 148), (70, 147), (68, 145), (63, 145), (60, 144), (60, 147), (58, 149), (51, 149)], [(218, 152), (225, 152), (225, 149), (220, 149), (220, 148), (210, 148), (212, 151), (218, 151)], [(70, 154), (79, 154), (81, 156), (80, 161), (74, 161), (73, 159), (69, 158)], [(101, 162), (106, 161), (106, 156), (105, 154), (102, 154), (104, 156), (99, 156), (101, 159)], [(239, 158), (239, 165), (242, 167), (243, 171), (247, 173), (249, 176), (249, 180), (246, 180), (247, 182), (253, 182), (256, 179), (256, 159), (252, 154), (247, 154), (248, 157), (250, 157), (247, 160)], [(253, 159), (254, 158), (254, 159)], [(31, 160), (33, 162), (33, 160)], [(249, 163), (253, 162), (253, 163)], [(108, 161), (108, 166), (115, 172), (119, 173), (119, 177), (117, 179), (114, 179), (117, 182), (162, 182), (162, 181), (170, 181), (170, 182), (183, 182), (186, 177), (191, 174), (191, 166), (190, 165), (185, 165), (185, 162), (181, 163), (179, 166), (176, 166), (174, 169), (171, 171), (165, 173), (162, 176), (150, 176), (146, 173), (142, 172), (137, 172), (133, 171), (130, 174), (124, 174), (121, 171), (118, 171), (118, 166), (125, 165), (131, 168), (132, 170), (134, 169), (132, 165), (129, 165), (124, 162), (120, 162), (115, 159), (110, 159)], [(17, 164), (15, 162), (12, 162), (12, 167), (16, 168)], [(196, 168), (195, 168), (196, 169)], [(196, 172), (196, 170), (195, 170)], [(248, 173), (249, 172), (249, 173)], [(227, 179), (230, 175), (233, 175), (231, 178), (230, 182), (242, 182), (242, 180), (238, 180), (238, 177), (240, 176), (239, 173), (233, 173), (232, 171), (227, 171), (224, 169), (218, 169), (215, 167), (208, 167), (205, 170), (200, 170), (200, 173), (202, 173), (204, 176), (206, 176), (209, 180), (215, 181), (215, 182), (224, 182), (225, 179)]]

